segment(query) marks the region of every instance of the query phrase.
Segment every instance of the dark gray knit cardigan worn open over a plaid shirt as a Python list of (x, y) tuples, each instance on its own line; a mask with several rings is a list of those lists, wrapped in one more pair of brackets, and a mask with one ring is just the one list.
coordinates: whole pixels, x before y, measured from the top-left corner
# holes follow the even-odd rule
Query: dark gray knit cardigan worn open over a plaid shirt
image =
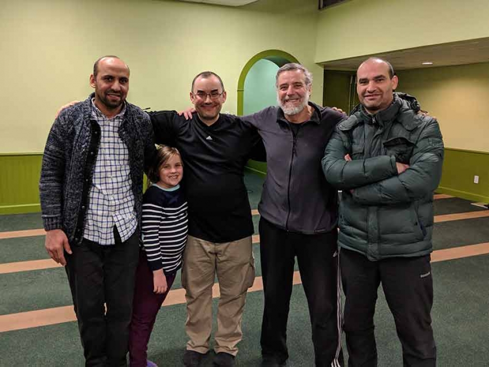
[[(83, 237), (88, 192), (100, 144), (100, 126), (91, 118), (93, 96), (59, 114), (42, 157), (39, 194), (44, 229), (62, 229), (70, 245), (81, 243)], [(148, 114), (126, 102), (119, 135), (129, 152), (134, 210), (141, 224), (143, 165), (146, 169), (156, 152)]]

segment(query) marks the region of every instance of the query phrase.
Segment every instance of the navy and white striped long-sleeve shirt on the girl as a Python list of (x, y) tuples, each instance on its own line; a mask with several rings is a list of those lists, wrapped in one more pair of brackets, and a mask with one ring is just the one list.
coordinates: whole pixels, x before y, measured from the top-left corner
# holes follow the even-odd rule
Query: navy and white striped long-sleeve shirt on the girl
[(182, 266), (187, 243), (187, 201), (180, 185), (170, 189), (151, 185), (143, 197), (143, 246), (151, 270), (173, 273)]

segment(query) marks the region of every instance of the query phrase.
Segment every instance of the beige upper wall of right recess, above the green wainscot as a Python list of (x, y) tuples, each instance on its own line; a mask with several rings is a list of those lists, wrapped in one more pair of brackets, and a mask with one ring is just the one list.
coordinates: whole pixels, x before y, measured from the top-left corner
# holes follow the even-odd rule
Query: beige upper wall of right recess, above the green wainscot
[(403, 70), (398, 90), (435, 116), (445, 147), (489, 152), (489, 63)]

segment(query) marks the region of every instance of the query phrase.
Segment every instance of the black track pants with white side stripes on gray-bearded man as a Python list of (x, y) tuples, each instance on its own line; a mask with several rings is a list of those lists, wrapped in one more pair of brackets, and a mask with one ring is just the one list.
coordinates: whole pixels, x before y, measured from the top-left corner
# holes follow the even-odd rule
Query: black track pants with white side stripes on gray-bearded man
[(297, 256), (316, 367), (342, 366), (336, 228), (313, 235), (292, 233), (261, 218), (259, 233), (265, 298), (260, 340), (263, 359), (283, 364), (288, 358), (286, 329)]

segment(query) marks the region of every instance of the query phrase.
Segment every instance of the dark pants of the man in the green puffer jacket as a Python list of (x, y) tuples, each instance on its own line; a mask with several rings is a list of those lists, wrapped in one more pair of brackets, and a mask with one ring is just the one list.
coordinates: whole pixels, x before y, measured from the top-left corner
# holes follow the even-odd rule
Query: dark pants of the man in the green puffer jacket
[(436, 366), (430, 255), (369, 261), (360, 253), (341, 249), (340, 267), (348, 366), (377, 367), (374, 313), (380, 283), (401, 341), (403, 366)]

